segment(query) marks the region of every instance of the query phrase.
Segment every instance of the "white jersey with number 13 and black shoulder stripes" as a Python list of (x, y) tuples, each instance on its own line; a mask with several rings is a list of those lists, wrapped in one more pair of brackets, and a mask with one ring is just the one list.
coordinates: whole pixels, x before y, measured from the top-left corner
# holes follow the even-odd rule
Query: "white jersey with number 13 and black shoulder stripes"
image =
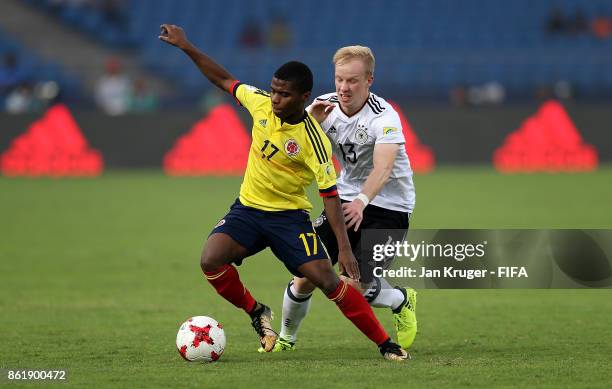
[[(316, 98), (334, 103), (321, 128), (332, 143), (333, 153), (342, 166), (338, 178), (340, 198), (353, 201), (374, 168), (374, 146), (396, 143), (400, 147), (389, 181), (370, 201), (378, 207), (412, 213), (415, 205), (410, 160), (404, 148), (399, 115), (383, 98), (370, 93), (363, 108), (351, 117), (342, 112), (336, 93)], [(310, 111), (310, 106), (307, 108)]]

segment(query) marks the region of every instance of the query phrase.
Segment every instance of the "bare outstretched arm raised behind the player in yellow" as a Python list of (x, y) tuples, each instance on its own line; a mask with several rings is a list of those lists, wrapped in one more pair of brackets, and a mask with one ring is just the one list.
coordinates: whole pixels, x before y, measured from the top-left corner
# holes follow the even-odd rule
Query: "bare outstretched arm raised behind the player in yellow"
[(232, 93), (231, 88), (236, 82), (234, 76), (189, 42), (185, 31), (181, 27), (174, 24), (162, 24), (159, 39), (183, 50), (210, 82), (218, 88)]

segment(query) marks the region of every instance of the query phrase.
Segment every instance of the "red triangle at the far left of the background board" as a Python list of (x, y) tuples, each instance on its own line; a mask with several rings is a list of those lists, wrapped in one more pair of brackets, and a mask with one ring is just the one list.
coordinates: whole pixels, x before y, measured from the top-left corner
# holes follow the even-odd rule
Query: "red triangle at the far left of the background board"
[(0, 156), (0, 170), (7, 176), (97, 176), (103, 165), (100, 152), (89, 148), (62, 104), (49, 108)]

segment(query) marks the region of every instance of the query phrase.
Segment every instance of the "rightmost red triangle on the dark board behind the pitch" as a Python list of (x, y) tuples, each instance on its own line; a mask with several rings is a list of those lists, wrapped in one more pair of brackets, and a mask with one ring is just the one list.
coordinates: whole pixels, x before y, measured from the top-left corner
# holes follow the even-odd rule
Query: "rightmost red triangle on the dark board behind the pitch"
[(510, 133), (493, 154), (501, 172), (584, 172), (599, 163), (597, 150), (582, 140), (563, 105), (550, 100)]

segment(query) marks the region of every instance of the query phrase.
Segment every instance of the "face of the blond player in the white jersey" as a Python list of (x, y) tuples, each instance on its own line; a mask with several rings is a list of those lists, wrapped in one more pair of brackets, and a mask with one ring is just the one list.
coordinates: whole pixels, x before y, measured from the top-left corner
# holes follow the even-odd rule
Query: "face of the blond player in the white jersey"
[(373, 80), (360, 59), (336, 64), (336, 93), (342, 108), (346, 111), (361, 108), (370, 94)]

